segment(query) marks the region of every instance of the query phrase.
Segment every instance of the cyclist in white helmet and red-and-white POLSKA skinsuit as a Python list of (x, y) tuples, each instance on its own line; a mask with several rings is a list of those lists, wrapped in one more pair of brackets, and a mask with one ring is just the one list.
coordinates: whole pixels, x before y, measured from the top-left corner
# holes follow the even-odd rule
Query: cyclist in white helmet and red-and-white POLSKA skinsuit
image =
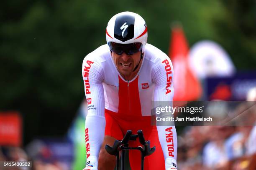
[[(87, 163), (84, 170), (113, 170), (115, 156), (105, 151), (127, 130), (143, 130), (156, 151), (145, 158), (146, 170), (177, 169), (177, 135), (173, 125), (151, 125), (151, 102), (174, 95), (169, 57), (147, 44), (147, 25), (136, 13), (113, 16), (106, 28), (107, 44), (88, 54), (82, 76), (88, 114), (85, 124)], [(129, 141), (137, 147), (138, 141)], [(138, 150), (129, 150), (132, 170), (140, 170)]]

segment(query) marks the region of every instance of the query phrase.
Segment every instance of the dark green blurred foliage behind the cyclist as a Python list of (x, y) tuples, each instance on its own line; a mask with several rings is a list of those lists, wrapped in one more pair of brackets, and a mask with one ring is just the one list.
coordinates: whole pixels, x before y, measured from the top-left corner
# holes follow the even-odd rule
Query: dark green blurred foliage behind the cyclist
[[(190, 46), (214, 40), (238, 69), (255, 69), (255, 8), (253, 0), (5, 1), (0, 8), (0, 108), (22, 112), (24, 131), (31, 132), (26, 140), (64, 134), (84, 97), (82, 60), (105, 44), (108, 20), (122, 11), (143, 16), (148, 43), (166, 53), (170, 26), (179, 22)], [(56, 120), (64, 125), (56, 127)]]

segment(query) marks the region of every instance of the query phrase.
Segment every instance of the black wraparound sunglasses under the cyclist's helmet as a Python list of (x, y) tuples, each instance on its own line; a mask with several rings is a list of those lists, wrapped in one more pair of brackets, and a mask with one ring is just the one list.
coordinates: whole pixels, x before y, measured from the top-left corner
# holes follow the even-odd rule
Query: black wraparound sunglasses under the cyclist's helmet
[(125, 54), (133, 55), (142, 50), (142, 43), (135, 42), (131, 44), (119, 44), (115, 42), (108, 42), (108, 46), (112, 52), (115, 52), (118, 55)]

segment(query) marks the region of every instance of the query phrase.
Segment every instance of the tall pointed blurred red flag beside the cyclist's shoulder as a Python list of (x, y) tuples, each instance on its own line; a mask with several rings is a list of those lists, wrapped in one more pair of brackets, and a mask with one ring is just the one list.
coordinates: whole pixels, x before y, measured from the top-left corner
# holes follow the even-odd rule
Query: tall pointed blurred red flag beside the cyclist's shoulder
[(188, 52), (182, 27), (174, 27), (169, 47), (169, 57), (174, 67), (174, 101), (198, 100), (202, 93), (200, 82), (189, 67)]

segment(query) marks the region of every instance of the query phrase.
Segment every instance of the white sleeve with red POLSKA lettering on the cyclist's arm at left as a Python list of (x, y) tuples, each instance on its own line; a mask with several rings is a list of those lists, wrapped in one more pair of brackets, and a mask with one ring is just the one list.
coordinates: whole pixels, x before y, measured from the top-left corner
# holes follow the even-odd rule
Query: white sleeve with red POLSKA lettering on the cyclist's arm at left
[(102, 67), (100, 63), (91, 60), (91, 58), (90, 56), (85, 57), (82, 65), (84, 92), (88, 104), (88, 113), (85, 120), (86, 165), (91, 165), (97, 169), (98, 156), (106, 125), (105, 102)]

